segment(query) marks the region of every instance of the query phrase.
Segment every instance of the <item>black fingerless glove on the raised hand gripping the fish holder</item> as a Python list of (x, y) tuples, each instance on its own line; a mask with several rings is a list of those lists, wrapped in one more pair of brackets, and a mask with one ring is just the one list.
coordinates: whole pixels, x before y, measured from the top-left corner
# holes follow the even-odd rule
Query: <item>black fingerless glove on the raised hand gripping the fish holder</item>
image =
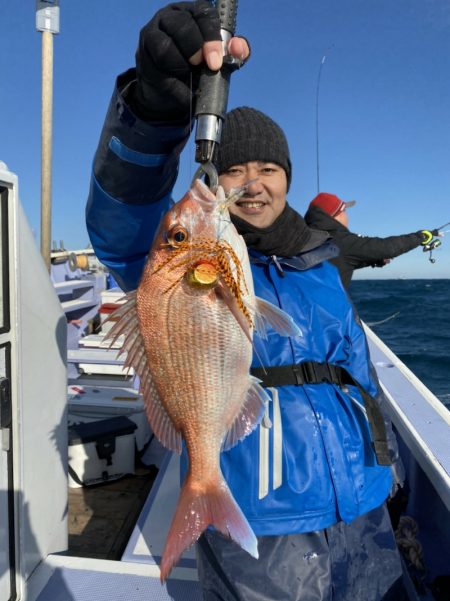
[(137, 82), (127, 94), (135, 114), (146, 121), (189, 121), (201, 70), (189, 58), (214, 40), (221, 40), (219, 14), (206, 0), (158, 11), (139, 36)]

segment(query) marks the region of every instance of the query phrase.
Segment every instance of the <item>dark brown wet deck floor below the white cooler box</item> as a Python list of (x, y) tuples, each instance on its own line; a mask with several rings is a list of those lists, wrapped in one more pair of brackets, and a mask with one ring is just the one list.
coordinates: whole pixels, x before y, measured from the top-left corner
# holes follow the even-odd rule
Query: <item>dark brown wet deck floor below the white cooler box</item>
[(69, 549), (75, 557), (120, 560), (158, 470), (91, 487), (69, 488)]

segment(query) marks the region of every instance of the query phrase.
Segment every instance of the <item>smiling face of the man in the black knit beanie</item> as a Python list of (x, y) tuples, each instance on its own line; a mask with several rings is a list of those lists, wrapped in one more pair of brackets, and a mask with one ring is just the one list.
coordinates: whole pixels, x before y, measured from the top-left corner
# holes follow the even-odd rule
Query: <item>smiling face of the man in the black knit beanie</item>
[(230, 213), (256, 227), (268, 227), (286, 206), (286, 172), (276, 163), (250, 161), (233, 165), (219, 176), (219, 184), (225, 192), (243, 186), (250, 180), (256, 181), (230, 207)]

